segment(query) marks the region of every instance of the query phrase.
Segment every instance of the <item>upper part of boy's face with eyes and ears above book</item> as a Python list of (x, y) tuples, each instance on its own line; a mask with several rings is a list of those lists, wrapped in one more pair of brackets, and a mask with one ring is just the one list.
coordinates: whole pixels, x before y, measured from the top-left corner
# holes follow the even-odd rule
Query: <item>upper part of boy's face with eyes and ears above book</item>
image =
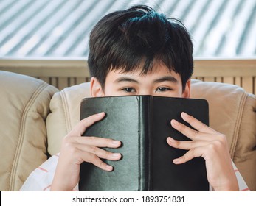
[(190, 97), (190, 80), (182, 90), (179, 74), (169, 71), (165, 65), (156, 65), (153, 71), (140, 75), (141, 71), (121, 73), (110, 71), (105, 79), (105, 89), (96, 78), (91, 78), (91, 96), (153, 95)]

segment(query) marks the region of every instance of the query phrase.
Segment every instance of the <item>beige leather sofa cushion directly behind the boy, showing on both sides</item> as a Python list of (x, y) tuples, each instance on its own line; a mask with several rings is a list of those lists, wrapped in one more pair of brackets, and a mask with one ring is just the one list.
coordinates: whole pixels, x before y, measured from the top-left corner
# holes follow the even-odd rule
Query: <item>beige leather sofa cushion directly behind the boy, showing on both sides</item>
[[(46, 121), (50, 154), (60, 151), (61, 140), (79, 121), (81, 99), (89, 96), (89, 83), (55, 93)], [(232, 160), (249, 188), (256, 191), (255, 96), (235, 85), (193, 80), (191, 97), (207, 99), (210, 127), (226, 135)]]

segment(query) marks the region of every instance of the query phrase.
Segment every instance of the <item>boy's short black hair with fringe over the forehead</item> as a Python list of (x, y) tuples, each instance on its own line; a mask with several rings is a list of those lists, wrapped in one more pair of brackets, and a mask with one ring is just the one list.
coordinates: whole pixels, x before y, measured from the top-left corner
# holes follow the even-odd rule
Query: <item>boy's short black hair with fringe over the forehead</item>
[(91, 31), (89, 49), (91, 77), (103, 89), (109, 71), (142, 68), (141, 74), (148, 74), (154, 61), (180, 74), (183, 89), (193, 74), (193, 44), (187, 29), (144, 5), (105, 15)]

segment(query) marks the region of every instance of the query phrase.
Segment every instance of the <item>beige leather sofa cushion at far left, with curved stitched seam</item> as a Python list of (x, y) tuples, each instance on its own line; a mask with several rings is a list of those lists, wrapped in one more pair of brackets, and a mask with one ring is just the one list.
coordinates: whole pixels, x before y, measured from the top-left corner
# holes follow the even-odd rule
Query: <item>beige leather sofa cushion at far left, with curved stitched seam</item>
[(0, 71), (0, 88), (0, 190), (18, 191), (47, 159), (45, 119), (58, 89), (7, 71)]

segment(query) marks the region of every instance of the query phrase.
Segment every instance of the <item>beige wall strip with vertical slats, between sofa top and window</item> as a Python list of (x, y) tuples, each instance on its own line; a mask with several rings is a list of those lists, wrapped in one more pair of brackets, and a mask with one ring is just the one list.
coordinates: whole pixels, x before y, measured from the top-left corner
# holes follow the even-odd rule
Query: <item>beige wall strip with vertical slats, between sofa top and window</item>
[[(89, 82), (86, 59), (3, 59), (0, 69), (43, 79), (60, 90)], [(239, 85), (256, 93), (256, 59), (196, 59), (193, 79)]]

